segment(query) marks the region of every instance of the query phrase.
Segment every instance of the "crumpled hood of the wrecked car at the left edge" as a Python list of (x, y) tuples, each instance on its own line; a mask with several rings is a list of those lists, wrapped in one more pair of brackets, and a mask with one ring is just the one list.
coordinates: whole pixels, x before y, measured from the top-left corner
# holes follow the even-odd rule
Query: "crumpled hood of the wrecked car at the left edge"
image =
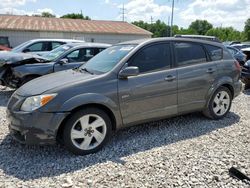
[(40, 60), (46, 60), (41, 56), (35, 54), (26, 54), (26, 53), (14, 53), (14, 52), (0, 52), (0, 65), (5, 64), (16, 64), (25, 61), (32, 61), (35, 63), (40, 62)]

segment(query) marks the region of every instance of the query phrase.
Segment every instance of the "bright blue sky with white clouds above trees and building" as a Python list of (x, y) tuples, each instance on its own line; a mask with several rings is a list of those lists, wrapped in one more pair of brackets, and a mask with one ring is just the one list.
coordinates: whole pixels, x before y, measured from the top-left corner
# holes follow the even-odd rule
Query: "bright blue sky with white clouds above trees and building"
[[(0, 0), (0, 14), (32, 15), (43, 11), (60, 17), (80, 13), (93, 20), (125, 21), (158, 19), (166, 24), (171, 16), (172, 0)], [(214, 27), (244, 29), (250, 18), (250, 0), (175, 0), (174, 24), (187, 28), (196, 19), (206, 19)]]

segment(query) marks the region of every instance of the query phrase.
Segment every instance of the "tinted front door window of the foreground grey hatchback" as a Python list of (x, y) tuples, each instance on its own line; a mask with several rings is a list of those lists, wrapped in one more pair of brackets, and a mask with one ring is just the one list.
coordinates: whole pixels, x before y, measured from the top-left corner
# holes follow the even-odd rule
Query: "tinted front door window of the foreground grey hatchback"
[(136, 66), (140, 73), (170, 68), (170, 44), (162, 43), (145, 47), (130, 61), (129, 66)]

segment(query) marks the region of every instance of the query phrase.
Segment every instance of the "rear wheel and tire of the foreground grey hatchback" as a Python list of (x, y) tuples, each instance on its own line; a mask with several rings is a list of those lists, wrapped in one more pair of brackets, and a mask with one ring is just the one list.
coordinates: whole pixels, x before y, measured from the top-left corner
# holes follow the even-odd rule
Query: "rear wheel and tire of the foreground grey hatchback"
[(221, 119), (227, 115), (232, 105), (232, 93), (226, 87), (219, 87), (209, 101), (203, 114), (211, 119)]

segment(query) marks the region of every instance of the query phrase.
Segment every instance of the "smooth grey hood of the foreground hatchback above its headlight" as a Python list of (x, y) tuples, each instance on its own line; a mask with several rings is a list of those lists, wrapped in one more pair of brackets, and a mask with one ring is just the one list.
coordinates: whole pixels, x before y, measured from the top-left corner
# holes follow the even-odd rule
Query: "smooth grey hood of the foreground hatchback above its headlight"
[(87, 81), (97, 76), (98, 75), (91, 75), (87, 72), (79, 72), (76, 70), (60, 71), (31, 80), (20, 87), (16, 91), (16, 94), (24, 97), (40, 95), (51, 89), (62, 86), (66, 87), (67, 85)]

